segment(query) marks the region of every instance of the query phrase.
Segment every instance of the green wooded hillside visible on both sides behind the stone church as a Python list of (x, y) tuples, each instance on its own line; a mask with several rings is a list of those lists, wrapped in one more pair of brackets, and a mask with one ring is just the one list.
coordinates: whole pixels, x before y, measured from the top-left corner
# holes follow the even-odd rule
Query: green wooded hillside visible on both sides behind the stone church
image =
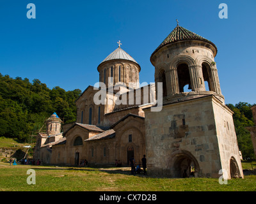
[[(0, 73), (0, 137), (27, 140), (36, 132), (53, 112), (64, 122), (76, 120), (76, 99), (81, 90), (65, 91), (60, 87), (49, 89), (35, 79), (10, 78)], [(252, 105), (248, 103), (228, 104), (233, 112), (237, 142), (243, 158), (255, 159), (250, 133), (245, 129), (254, 126)]]

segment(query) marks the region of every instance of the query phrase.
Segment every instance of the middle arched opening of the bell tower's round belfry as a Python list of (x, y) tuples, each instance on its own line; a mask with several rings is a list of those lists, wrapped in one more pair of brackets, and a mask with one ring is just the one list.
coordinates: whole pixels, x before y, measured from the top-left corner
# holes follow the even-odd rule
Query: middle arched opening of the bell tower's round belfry
[(184, 87), (188, 85), (186, 91), (191, 90), (191, 80), (189, 75), (188, 64), (182, 63), (177, 67), (178, 78), (179, 78), (179, 89), (180, 92), (184, 92)]

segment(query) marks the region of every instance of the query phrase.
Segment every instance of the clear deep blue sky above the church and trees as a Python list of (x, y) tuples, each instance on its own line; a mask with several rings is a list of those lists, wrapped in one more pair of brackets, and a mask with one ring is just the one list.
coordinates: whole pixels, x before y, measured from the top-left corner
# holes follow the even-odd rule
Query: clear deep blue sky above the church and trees
[[(28, 19), (28, 3), (36, 18)], [(219, 18), (219, 4), (228, 18)], [(179, 25), (218, 47), (215, 61), (225, 103), (256, 103), (255, 0), (54, 1), (1, 0), (0, 73), (38, 78), (66, 91), (99, 81), (97, 66), (118, 47), (141, 66), (140, 82), (154, 82), (150, 55)]]

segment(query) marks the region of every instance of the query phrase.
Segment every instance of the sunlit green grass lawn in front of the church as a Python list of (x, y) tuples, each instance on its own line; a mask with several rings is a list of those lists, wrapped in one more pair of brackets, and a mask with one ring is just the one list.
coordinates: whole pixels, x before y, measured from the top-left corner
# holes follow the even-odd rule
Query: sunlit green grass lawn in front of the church
[[(36, 172), (36, 184), (27, 184), (28, 169)], [(0, 191), (256, 191), (256, 175), (228, 180), (167, 179), (130, 175), (130, 168), (74, 168), (9, 166), (0, 163)]]

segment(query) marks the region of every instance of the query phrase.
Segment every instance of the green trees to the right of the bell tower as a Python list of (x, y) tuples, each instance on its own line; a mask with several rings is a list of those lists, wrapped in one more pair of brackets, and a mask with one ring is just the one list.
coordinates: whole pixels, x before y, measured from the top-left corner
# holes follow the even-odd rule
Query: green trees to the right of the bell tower
[(234, 126), (236, 129), (237, 143), (242, 152), (243, 159), (255, 159), (252, 138), (246, 127), (254, 126), (252, 110), (249, 103), (239, 102), (235, 106), (227, 104), (228, 108), (234, 112)]

